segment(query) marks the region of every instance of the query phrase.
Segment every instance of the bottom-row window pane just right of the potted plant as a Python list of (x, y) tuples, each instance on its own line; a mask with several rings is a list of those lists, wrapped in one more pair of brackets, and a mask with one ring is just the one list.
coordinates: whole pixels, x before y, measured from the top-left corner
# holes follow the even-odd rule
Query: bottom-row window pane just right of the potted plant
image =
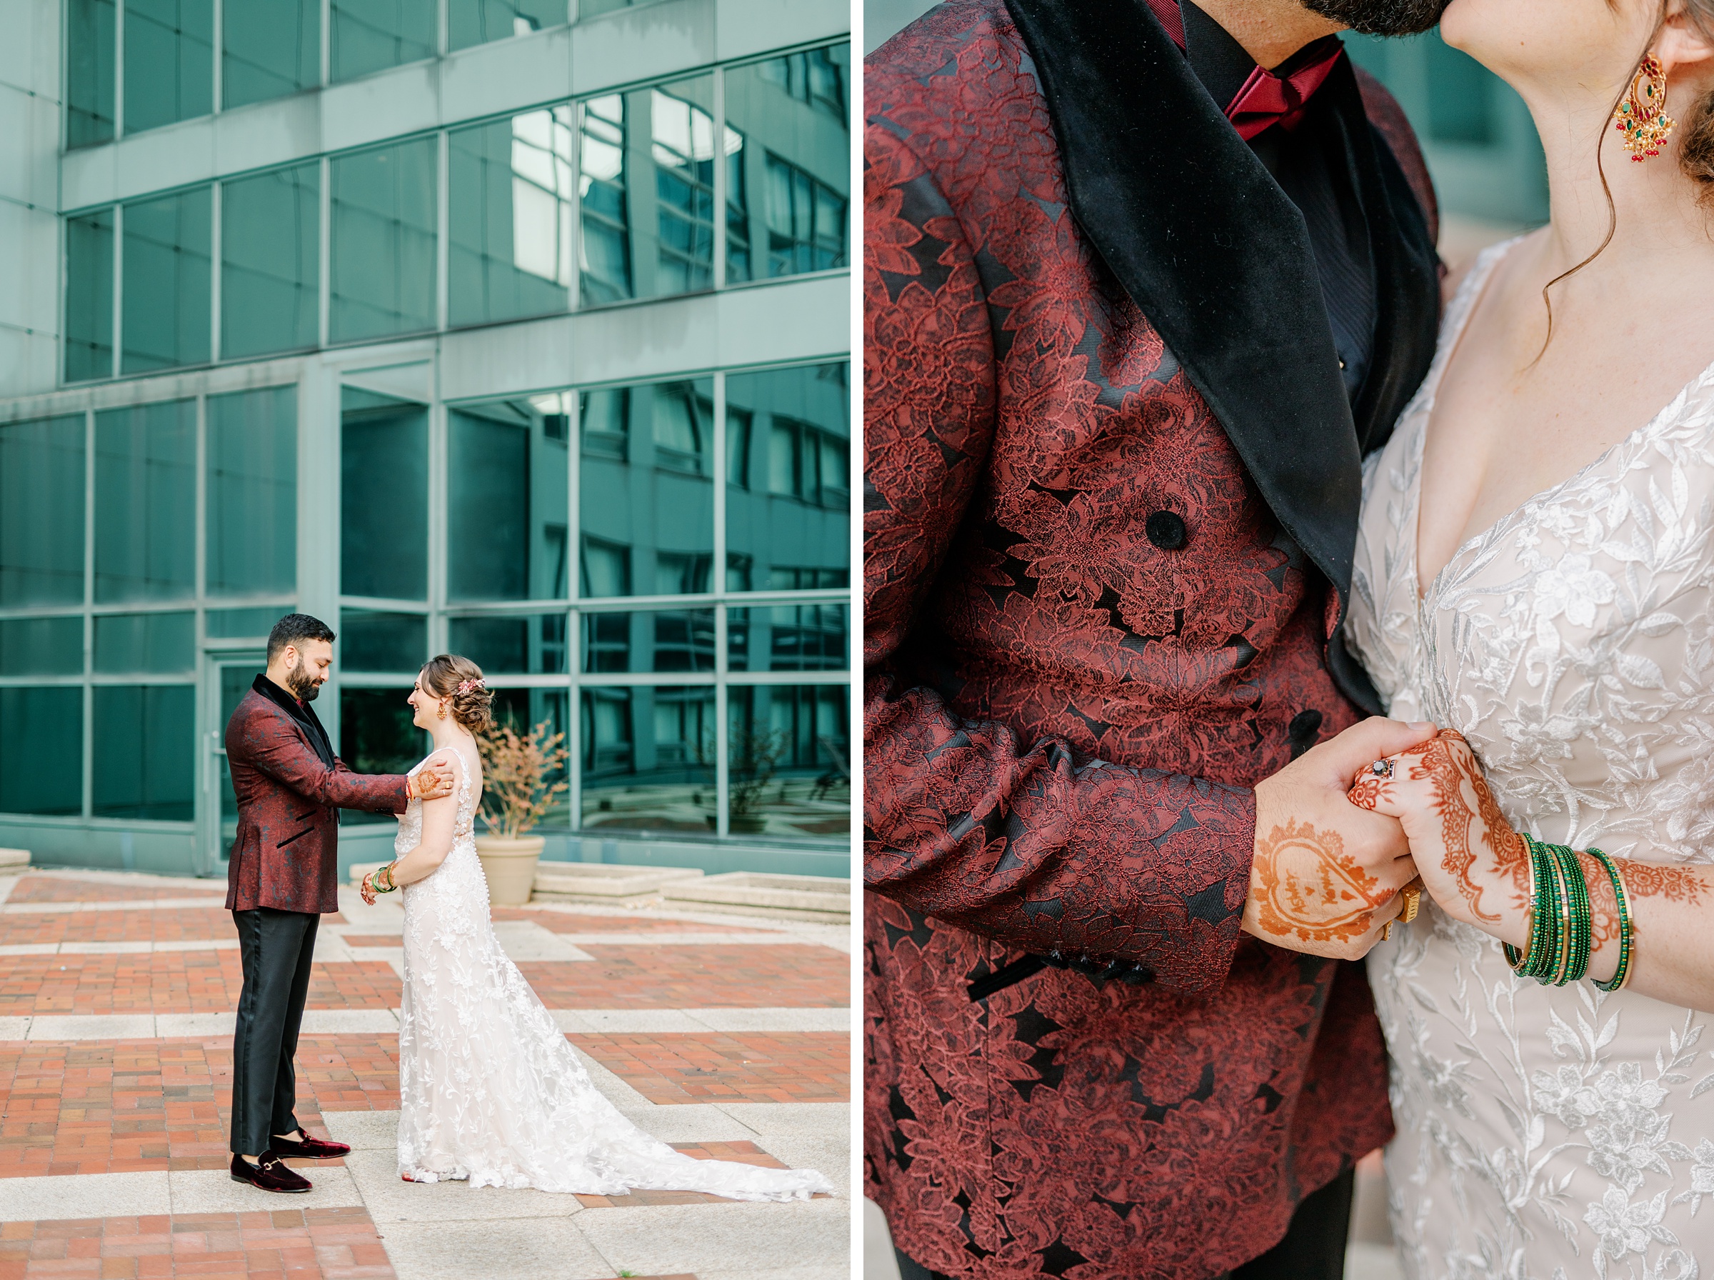
[(583, 691), (583, 826), (713, 829), (715, 691)]

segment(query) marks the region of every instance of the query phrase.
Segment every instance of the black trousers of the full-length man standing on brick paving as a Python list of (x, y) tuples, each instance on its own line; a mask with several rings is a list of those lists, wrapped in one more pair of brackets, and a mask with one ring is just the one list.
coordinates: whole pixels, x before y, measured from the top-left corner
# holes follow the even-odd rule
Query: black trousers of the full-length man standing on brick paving
[(243, 992), (231, 1042), (231, 1150), (262, 1155), (276, 1133), (297, 1133), (298, 1023), (310, 990), (319, 915), (257, 906), (233, 912)]

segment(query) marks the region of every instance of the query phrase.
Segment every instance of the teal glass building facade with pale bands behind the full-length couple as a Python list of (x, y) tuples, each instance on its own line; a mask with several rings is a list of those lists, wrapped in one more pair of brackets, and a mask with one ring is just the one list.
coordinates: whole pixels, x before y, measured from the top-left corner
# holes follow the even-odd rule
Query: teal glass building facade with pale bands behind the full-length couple
[(751, 10), (63, 0), (0, 845), (219, 874), (225, 720), (298, 608), (358, 771), (464, 653), (564, 735), (550, 858), (850, 874), (848, 14)]

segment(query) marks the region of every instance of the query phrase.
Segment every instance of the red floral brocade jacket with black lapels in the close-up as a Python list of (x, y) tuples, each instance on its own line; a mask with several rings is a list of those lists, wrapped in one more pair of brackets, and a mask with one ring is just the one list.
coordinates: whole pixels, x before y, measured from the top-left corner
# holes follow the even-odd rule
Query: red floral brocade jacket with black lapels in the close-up
[[(936, 1273), (1212, 1277), (1392, 1134), (1361, 966), (1239, 932), (1251, 788), (1373, 699), (1359, 459), (1438, 307), (1397, 106), (1340, 62), (1311, 110), (1369, 219), (1354, 403), (1143, 5), (955, 0), (867, 60), (866, 1189)], [(972, 997), (1030, 954), (1085, 972)]]

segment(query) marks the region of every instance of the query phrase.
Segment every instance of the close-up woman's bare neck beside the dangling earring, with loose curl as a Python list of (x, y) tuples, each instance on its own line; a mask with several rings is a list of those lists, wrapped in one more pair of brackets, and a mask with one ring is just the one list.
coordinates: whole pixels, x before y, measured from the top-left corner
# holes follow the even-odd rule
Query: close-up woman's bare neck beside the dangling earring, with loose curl
[[(1668, 115), (1683, 120), (1705, 82), (1668, 84)], [(1683, 129), (1659, 156), (1632, 163), (1613, 129), (1613, 96), (1587, 84), (1517, 86), (1529, 105), (1548, 164), (1549, 223), (1537, 266), (1558, 276), (1594, 254), (1613, 226), (1613, 240), (1585, 267), (1587, 283), (1633, 276), (1671, 266), (1695, 269), (1714, 262), (1709, 211), (1699, 183), (1678, 164)], [(1599, 147), (1599, 164), (1597, 164)], [(1611, 212), (1603, 190), (1611, 190)], [(1580, 272), (1582, 274), (1582, 272)]]

